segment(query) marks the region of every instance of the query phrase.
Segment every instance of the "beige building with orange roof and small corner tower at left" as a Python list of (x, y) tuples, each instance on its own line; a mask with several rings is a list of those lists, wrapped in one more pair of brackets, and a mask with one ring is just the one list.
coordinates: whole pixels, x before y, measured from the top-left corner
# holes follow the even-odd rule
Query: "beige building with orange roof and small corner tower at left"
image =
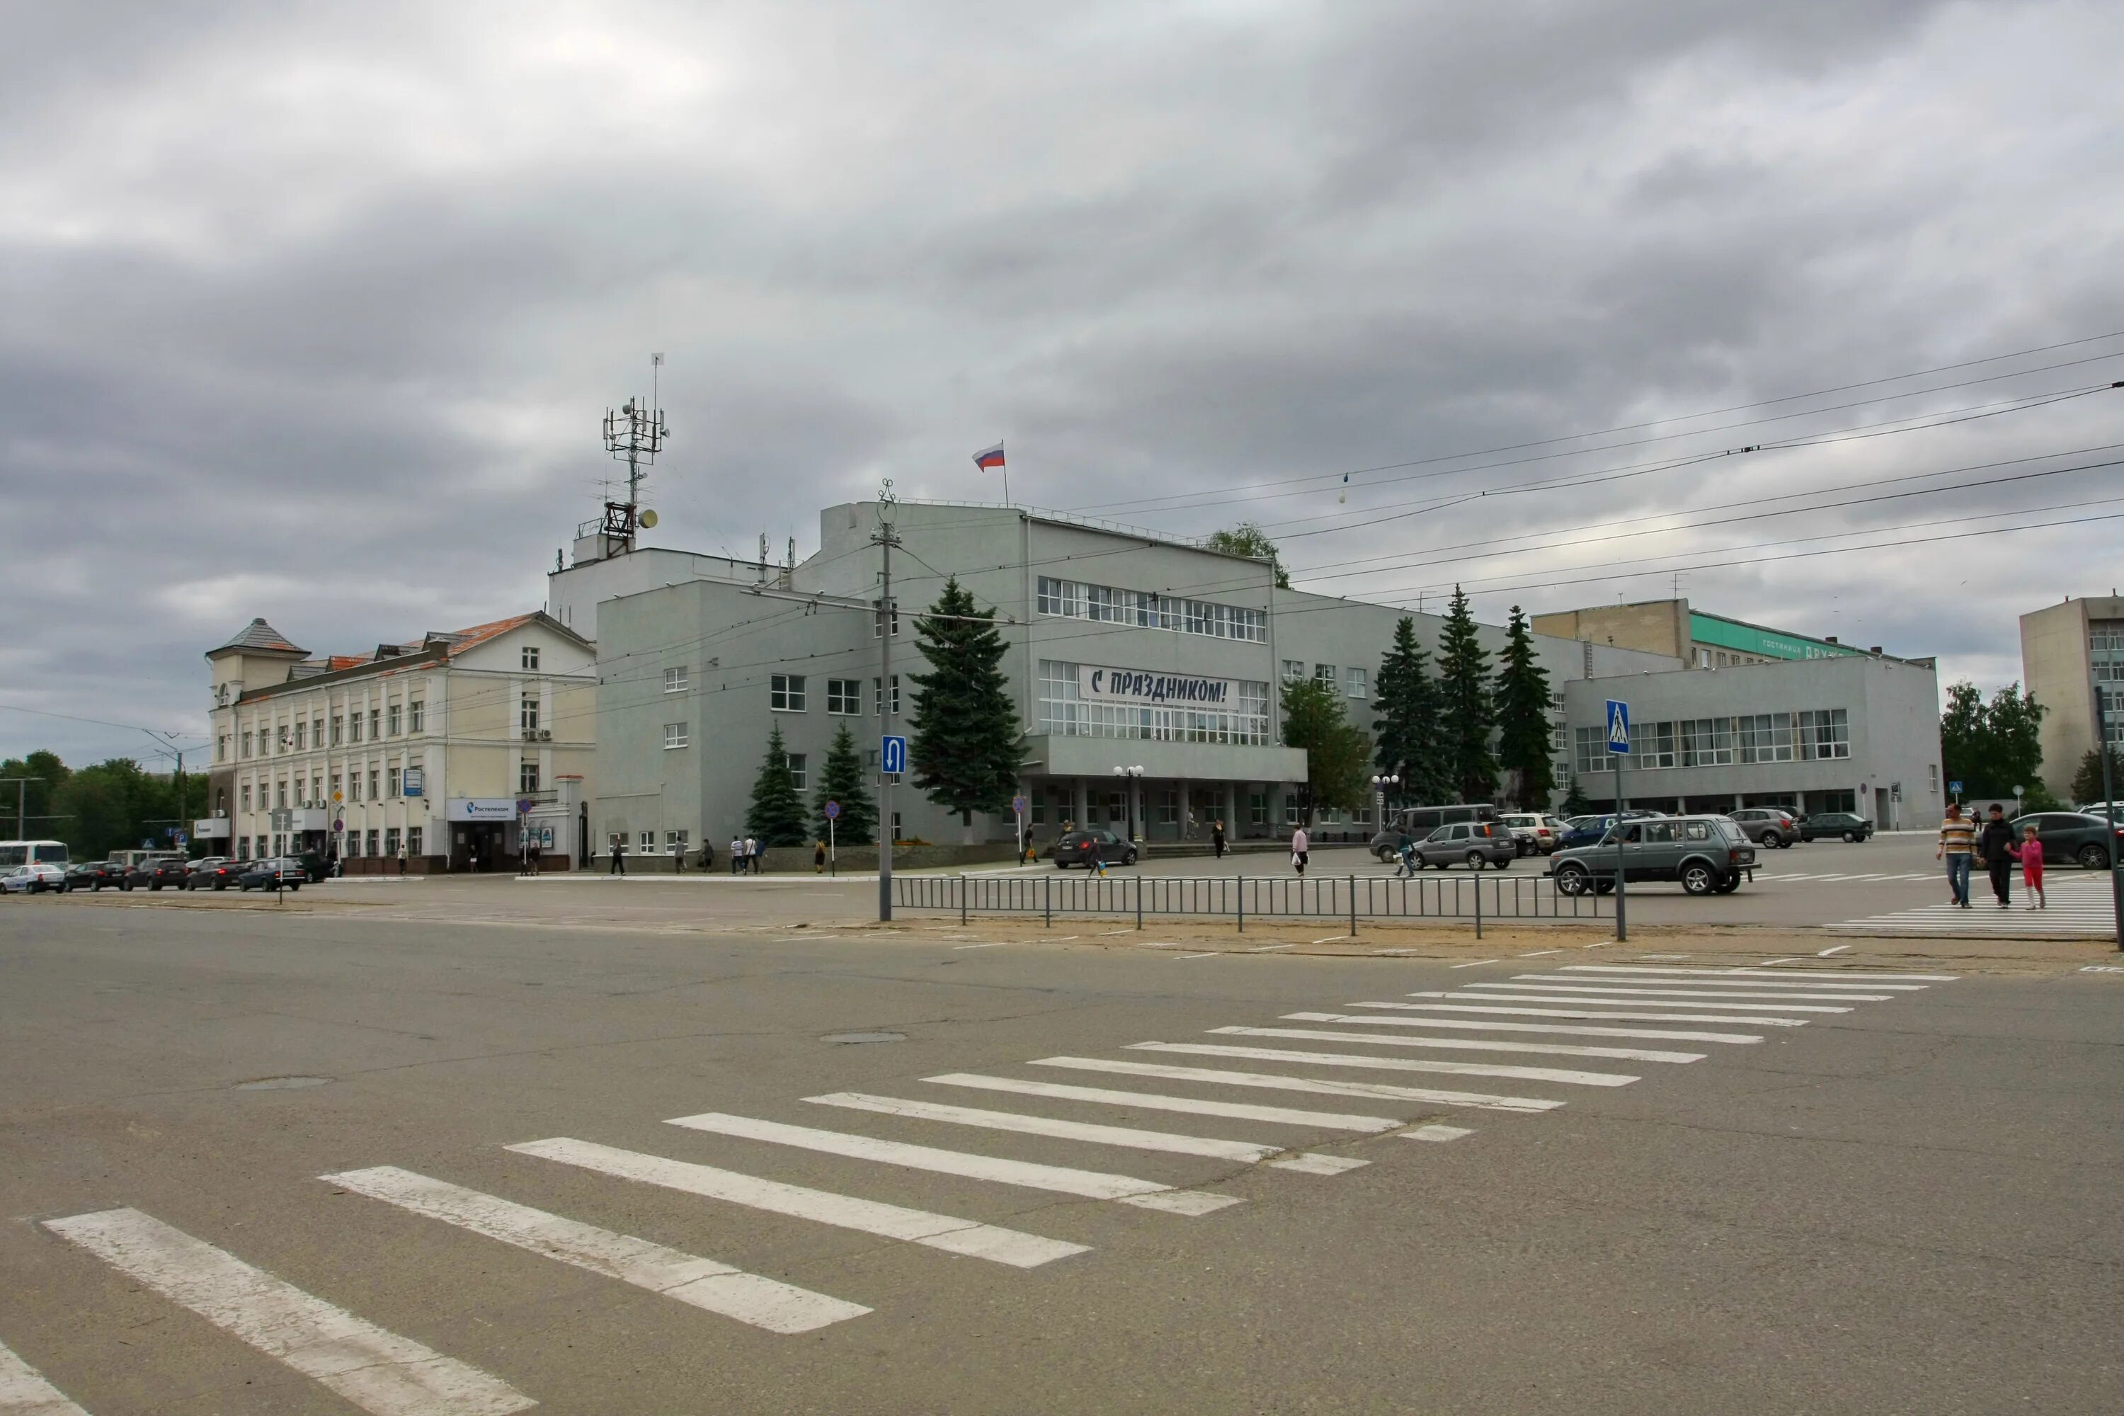
[(546, 868), (582, 858), (597, 652), (546, 614), (331, 656), (253, 620), (206, 662), (208, 849), (348, 873), (401, 849), (412, 870), (514, 868), (525, 841)]

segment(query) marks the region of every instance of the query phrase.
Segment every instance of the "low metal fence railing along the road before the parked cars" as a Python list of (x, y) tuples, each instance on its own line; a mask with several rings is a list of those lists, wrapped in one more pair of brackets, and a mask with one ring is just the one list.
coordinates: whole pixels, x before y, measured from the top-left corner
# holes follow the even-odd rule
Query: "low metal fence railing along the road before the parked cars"
[(1506, 875), (896, 875), (892, 906), (973, 915), (1232, 919), (1604, 919), (1604, 896)]

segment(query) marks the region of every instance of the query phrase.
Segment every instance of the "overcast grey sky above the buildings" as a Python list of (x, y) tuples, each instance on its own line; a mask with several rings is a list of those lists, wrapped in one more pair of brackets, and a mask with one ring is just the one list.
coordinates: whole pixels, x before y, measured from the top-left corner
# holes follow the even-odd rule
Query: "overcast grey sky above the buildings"
[[(2124, 456), (2090, 452), (2124, 391), (2031, 405), (2124, 380), (2118, 4), (23, 0), (0, 30), (17, 709), (204, 741), (200, 656), (251, 616), (348, 652), (537, 607), (650, 350), (665, 546), (807, 554), (888, 476), (1000, 499), (969, 459), (1007, 437), (1022, 503), (1253, 516), (1321, 590), (1463, 580), (1502, 620), (1680, 567), (1699, 607), (1943, 681), (2018, 677), (2018, 614), (2124, 580), (2092, 520), (2124, 469), (2022, 476)], [(1674, 465), (1780, 439), (1814, 446)], [(1820, 507), (1884, 493), (1920, 495)], [(38, 745), (147, 739), (0, 711), (0, 754)]]

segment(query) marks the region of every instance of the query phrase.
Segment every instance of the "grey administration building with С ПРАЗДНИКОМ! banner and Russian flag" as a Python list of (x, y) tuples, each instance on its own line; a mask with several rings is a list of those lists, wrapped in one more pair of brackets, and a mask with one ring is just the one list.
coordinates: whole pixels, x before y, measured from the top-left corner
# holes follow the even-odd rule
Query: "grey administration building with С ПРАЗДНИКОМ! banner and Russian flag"
[[(875, 771), (886, 722), (905, 730), (911, 633), (947, 575), (994, 607), (1024, 724), (1022, 794), (1041, 841), (1062, 822), (1134, 824), (1149, 841), (1283, 836), (1304, 754), (1281, 747), (1279, 684), (1332, 679), (1364, 728), (1395, 622), (1436, 654), (1440, 616), (1279, 590), (1262, 560), (1183, 537), (1051, 512), (958, 503), (890, 507), (892, 677), (879, 667), (875, 501), (820, 514), (820, 548), (771, 565), (601, 533), (548, 582), (548, 614), (597, 643), (597, 796), (590, 839), (635, 853), (743, 834), (752, 781), (780, 724), (805, 800), (843, 724)], [(905, 631), (905, 633), (898, 633)], [(1500, 626), (1483, 626), (1493, 654)], [(1939, 715), (1933, 667), (1880, 654), (1697, 669), (1676, 654), (1536, 635), (1555, 688), (1551, 741), (1595, 802), (1612, 796), (1587, 737), (1627, 698), (1650, 752), (1633, 802), (1856, 809), (1882, 826), (1935, 819)], [(1115, 769), (1141, 769), (1117, 775)], [(911, 785), (892, 794), (901, 839), (958, 843), (956, 815)], [(1009, 813), (975, 841), (1009, 841)], [(1372, 828), (1370, 807), (1325, 813), (1328, 839)]]

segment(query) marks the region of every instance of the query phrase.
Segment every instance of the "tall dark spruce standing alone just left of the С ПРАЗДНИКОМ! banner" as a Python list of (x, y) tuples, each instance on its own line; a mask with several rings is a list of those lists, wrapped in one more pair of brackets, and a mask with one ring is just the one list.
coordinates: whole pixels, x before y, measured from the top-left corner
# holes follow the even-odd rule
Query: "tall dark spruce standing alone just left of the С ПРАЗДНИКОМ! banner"
[(971, 834), (975, 811), (1005, 811), (1017, 792), (1024, 728), (1003, 679), (1003, 635), (994, 609), (979, 609), (958, 577), (915, 620), (915, 647), (930, 662), (915, 673), (907, 752), (913, 781), (932, 802), (958, 811)]

